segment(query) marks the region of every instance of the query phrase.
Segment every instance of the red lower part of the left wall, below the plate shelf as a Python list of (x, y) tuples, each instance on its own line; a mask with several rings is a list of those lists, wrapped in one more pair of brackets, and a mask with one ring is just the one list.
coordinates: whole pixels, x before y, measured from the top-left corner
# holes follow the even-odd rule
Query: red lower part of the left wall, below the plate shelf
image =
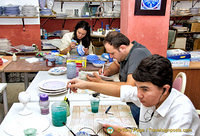
[(40, 48), (40, 25), (25, 25), (25, 31), (22, 25), (0, 25), (0, 38), (7, 38), (13, 46), (34, 43)]

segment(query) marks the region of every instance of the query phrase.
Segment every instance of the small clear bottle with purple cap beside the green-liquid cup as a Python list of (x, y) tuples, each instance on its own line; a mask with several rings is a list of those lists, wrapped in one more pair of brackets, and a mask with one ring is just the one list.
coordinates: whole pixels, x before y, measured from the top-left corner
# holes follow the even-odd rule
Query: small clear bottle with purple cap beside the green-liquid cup
[(42, 115), (49, 114), (49, 96), (47, 94), (40, 94), (39, 105)]

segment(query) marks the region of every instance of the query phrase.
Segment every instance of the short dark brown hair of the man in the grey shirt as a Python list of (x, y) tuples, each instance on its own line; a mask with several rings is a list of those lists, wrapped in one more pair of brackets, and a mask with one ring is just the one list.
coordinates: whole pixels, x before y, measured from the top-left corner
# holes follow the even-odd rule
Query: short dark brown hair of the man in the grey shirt
[(118, 49), (121, 45), (128, 46), (130, 44), (130, 40), (124, 34), (112, 31), (106, 35), (103, 43), (109, 43), (114, 48)]

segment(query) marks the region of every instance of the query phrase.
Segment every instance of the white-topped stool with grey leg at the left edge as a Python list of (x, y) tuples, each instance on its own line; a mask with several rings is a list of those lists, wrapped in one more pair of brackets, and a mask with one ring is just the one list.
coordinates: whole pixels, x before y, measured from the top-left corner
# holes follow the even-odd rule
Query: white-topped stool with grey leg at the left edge
[(7, 83), (0, 83), (0, 93), (3, 94), (3, 106), (4, 106), (4, 114), (6, 115), (8, 112), (8, 101), (6, 94)]

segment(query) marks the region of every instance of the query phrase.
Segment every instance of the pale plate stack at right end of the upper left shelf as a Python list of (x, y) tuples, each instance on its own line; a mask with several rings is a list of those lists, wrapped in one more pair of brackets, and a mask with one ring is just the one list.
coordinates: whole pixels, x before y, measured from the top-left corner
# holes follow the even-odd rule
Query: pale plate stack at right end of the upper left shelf
[(28, 17), (36, 16), (37, 15), (37, 9), (36, 9), (35, 6), (32, 6), (32, 5), (24, 5), (22, 7), (22, 14), (24, 16), (28, 16)]

